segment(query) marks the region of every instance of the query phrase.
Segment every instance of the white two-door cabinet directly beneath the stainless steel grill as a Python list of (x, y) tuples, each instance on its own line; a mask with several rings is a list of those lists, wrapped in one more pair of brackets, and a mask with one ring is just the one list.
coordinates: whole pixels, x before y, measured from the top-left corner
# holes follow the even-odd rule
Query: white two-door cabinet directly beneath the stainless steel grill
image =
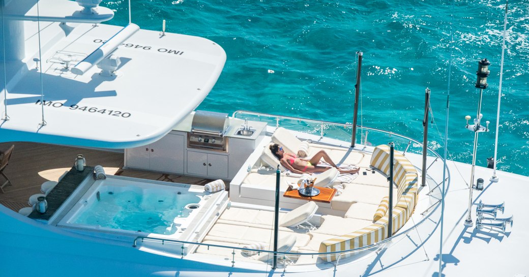
[(228, 156), (188, 150), (187, 173), (200, 176), (227, 178)]

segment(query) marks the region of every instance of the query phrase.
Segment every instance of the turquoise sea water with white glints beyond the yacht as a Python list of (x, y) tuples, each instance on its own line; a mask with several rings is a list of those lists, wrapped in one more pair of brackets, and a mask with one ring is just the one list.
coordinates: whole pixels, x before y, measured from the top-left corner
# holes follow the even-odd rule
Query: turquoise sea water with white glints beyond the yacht
[[(108, 23), (128, 23), (127, 1), (102, 5), (116, 13)], [(487, 58), (489, 87), (481, 113), (491, 132), (479, 136), (477, 164), (486, 166), (494, 155), (505, 1), (132, 0), (131, 5), (132, 22), (142, 29), (160, 31), (165, 19), (167, 32), (203, 36), (226, 51), (224, 71), (199, 109), (350, 123), (355, 53), (362, 51), (362, 124), (421, 141), (429, 87), (435, 122), (430, 146), (442, 154), (450, 89), (449, 158), (466, 163), (472, 159), (473, 132), (464, 128), (464, 116), (476, 116), (476, 70)], [(507, 30), (498, 169), (527, 176), (529, 2), (509, 2)]]

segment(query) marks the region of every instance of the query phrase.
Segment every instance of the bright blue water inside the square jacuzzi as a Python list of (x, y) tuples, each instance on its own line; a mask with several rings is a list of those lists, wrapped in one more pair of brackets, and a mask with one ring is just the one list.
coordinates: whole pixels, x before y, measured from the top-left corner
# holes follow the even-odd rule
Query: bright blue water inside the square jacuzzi
[(174, 219), (187, 217), (190, 213), (184, 207), (200, 201), (198, 196), (187, 193), (167, 193), (157, 189), (141, 193), (133, 190), (113, 192), (113, 187), (108, 186), (99, 189), (99, 199), (71, 222), (171, 235), (177, 230), (172, 228)]

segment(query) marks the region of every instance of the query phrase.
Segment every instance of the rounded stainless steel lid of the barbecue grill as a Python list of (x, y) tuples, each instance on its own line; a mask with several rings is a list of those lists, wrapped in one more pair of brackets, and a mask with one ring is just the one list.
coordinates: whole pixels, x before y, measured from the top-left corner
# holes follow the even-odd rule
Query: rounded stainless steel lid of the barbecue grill
[(223, 135), (228, 125), (228, 114), (197, 110), (191, 122), (191, 132), (212, 132)]

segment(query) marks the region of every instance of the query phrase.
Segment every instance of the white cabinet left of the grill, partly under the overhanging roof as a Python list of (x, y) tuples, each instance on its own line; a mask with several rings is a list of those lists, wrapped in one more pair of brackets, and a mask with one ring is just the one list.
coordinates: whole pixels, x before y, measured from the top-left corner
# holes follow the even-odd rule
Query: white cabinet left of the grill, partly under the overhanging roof
[(126, 149), (125, 166), (168, 173), (184, 173), (184, 135), (169, 133), (149, 145)]

